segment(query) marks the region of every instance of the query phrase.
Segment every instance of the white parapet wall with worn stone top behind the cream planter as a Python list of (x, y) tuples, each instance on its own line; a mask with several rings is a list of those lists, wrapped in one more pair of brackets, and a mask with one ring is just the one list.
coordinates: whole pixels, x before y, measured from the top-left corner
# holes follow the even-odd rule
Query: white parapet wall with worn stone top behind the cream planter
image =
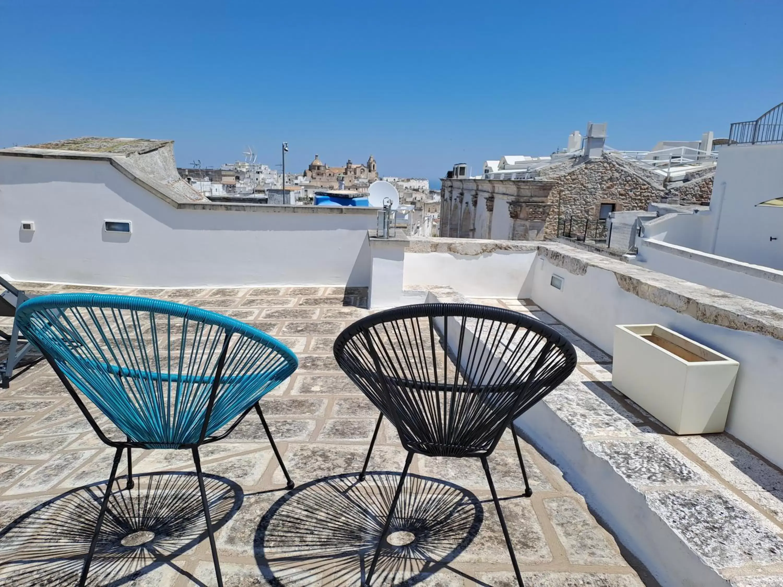
[(615, 325), (651, 323), (738, 361), (726, 430), (783, 466), (783, 310), (554, 243), (533, 275), (532, 300), (609, 355)]

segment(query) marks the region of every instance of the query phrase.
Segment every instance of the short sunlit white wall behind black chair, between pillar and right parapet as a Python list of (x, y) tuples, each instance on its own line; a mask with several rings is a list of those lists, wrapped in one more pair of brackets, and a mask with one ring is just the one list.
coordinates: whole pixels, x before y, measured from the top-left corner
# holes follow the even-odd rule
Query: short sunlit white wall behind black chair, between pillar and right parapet
[(405, 286), (449, 286), (469, 297), (529, 297), (536, 251), (405, 254)]

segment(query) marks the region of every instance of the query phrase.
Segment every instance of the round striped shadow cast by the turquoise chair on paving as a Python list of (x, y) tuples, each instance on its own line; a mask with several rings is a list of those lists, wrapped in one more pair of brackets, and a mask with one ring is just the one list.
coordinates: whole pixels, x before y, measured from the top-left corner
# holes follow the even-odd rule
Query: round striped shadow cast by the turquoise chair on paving
[[(88, 585), (128, 584), (162, 565), (184, 572), (172, 560), (207, 538), (195, 473), (133, 477), (132, 489), (124, 488), (126, 477), (115, 483)], [(244, 494), (239, 485), (216, 475), (204, 474), (204, 484), (212, 526), (218, 531), (240, 509)], [(0, 584), (76, 585), (105, 491), (106, 481), (74, 489), (3, 528)]]

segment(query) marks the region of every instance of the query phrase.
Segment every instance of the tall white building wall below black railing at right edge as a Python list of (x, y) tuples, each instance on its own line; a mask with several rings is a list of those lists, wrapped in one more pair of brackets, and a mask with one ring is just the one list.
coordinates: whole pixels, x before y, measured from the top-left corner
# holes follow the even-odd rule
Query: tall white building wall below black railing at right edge
[(703, 250), (783, 269), (783, 207), (756, 206), (783, 197), (783, 145), (721, 149), (714, 185), (715, 243)]

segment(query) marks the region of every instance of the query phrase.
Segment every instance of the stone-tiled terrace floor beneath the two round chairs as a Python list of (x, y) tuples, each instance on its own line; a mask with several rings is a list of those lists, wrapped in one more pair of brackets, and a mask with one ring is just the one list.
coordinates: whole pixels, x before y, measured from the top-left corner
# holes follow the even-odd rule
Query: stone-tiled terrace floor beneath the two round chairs
[[(17, 286), (36, 294), (97, 290), (182, 301), (244, 320), (287, 344), (299, 369), (265, 396), (262, 409), (297, 488), (284, 488), (252, 413), (225, 441), (201, 451), (223, 577), (226, 585), (243, 587), (359, 585), (405, 459), (384, 422), (373, 473), (356, 482), (377, 411), (337, 368), (331, 347), (337, 333), (369, 313), (366, 290)], [(556, 322), (515, 300), (480, 302)], [(0, 329), (9, 328), (0, 320)], [(610, 359), (574, 341), (579, 368), (571, 384), (601, 382)], [(96, 438), (45, 362), (18, 373), (0, 391), (0, 584), (73, 585), (114, 451)], [(525, 585), (642, 585), (581, 496), (525, 442), (533, 495), (521, 496), (510, 434), (489, 460)], [(166, 471), (193, 471), (189, 452), (134, 452), (136, 488), (119, 491), (124, 482), (117, 484), (92, 585), (215, 585), (193, 475)], [(516, 585), (478, 460), (417, 456), (411, 471), (401, 505), (406, 515), (395, 520), (391, 538), (395, 549), (384, 551), (373, 584)], [(139, 530), (153, 532), (150, 542), (128, 542)], [(406, 531), (416, 537), (407, 545)]]

